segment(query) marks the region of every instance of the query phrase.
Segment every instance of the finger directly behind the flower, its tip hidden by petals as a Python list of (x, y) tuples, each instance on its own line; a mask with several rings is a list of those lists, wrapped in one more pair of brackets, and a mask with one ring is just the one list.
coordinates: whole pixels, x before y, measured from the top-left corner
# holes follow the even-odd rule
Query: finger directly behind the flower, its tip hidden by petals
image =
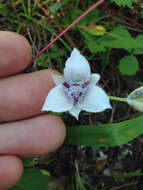
[(38, 115), (54, 87), (51, 71), (43, 70), (0, 80), (0, 121), (14, 121)]

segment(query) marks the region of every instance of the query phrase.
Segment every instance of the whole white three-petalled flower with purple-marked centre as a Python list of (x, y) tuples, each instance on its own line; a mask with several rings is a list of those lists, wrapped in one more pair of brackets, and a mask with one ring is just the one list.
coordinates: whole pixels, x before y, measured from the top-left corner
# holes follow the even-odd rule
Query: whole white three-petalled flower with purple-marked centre
[(68, 111), (78, 119), (81, 110), (102, 112), (111, 108), (107, 94), (96, 85), (100, 75), (91, 74), (88, 61), (76, 48), (66, 61), (64, 76), (52, 77), (56, 87), (49, 92), (43, 111)]

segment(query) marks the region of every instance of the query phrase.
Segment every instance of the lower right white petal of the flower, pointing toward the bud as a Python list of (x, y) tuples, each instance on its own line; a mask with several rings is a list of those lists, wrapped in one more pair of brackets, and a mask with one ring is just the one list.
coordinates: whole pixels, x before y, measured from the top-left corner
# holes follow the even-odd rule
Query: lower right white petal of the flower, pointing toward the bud
[(101, 112), (111, 108), (109, 98), (104, 90), (96, 85), (90, 84), (89, 90), (81, 102), (81, 108), (88, 112)]

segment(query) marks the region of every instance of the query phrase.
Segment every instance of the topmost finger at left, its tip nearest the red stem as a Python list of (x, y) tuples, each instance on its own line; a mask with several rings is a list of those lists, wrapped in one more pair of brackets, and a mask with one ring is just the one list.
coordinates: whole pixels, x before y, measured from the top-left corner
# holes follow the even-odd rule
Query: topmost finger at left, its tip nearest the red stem
[(22, 71), (31, 58), (32, 50), (26, 38), (14, 32), (0, 31), (0, 77)]

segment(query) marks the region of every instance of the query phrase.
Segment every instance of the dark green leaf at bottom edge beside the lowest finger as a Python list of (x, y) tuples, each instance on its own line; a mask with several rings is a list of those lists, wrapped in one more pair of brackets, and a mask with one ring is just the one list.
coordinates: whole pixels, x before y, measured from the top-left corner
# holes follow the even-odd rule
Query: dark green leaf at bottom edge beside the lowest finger
[(49, 183), (49, 175), (35, 168), (25, 169), (20, 181), (10, 190), (48, 190)]

